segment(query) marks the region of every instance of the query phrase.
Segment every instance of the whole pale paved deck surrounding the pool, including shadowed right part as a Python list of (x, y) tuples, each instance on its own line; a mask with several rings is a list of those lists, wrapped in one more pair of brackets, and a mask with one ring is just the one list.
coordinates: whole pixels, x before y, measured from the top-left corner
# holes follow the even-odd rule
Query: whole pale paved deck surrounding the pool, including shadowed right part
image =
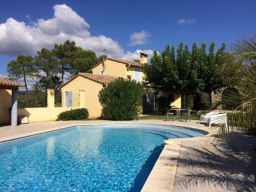
[[(75, 125), (106, 123), (167, 124), (209, 130), (198, 121), (65, 121), (0, 127), (0, 142)], [(245, 135), (217, 143), (204, 137), (172, 139), (165, 145), (141, 191), (256, 191), (256, 140)]]

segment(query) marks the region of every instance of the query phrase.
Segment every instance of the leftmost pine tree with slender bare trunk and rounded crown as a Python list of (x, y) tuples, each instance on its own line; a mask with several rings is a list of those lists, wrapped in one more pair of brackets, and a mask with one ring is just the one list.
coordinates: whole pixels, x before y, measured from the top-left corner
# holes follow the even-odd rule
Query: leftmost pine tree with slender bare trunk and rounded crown
[(27, 78), (34, 78), (37, 70), (34, 66), (34, 59), (30, 55), (18, 55), (17, 60), (7, 64), (7, 73), (13, 79), (22, 78), (26, 88), (26, 103), (28, 107), (28, 86)]

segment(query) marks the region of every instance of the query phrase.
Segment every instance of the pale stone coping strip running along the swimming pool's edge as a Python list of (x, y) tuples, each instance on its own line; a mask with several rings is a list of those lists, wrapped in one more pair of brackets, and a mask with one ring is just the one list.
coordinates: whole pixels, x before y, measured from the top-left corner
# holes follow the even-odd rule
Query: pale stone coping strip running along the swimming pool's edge
[[(50, 133), (54, 131), (59, 131), (62, 129), (68, 129), (74, 126), (94, 126), (94, 125), (106, 125), (106, 124), (156, 124), (156, 125), (169, 125), (169, 126), (178, 126), (178, 127), (185, 127), (188, 129), (196, 129), (208, 132), (208, 134), (201, 136), (201, 137), (193, 137), (193, 138), (177, 138), (177, 139), (169, 139), (173, 141), (172, 145), (165, 145), (161, 154), (159, 155), (153, 169), (151, 170), (145, 184), (143, 185), (143, 188), (141, 191), (143, 192), (149, 192), (149, 191), (161, 191), (161, 190), (168, 190), (173, 191), (174, 187), (174, 181), (175, 181), (175, 175), (177, 173), (177, 167), (178, 167), (178, 159), (180, 155), (181, 150), (181, 142), (182, 141), (191, 141), (191, 140), (203, 140), (203, 139), (210, 139), (213, 137), (213, 134), (209, 132), (209, 127), (203, 127), (203, 126), (193, 126), (191, 124), (182, 124), (179, 125), (179, 123), (172, 123), (170, 124), (169, 121), (166, 122), (150, 122), (150, 121), (122, 121), (122, 122), (93, 122), (93, 123), (79, 123), (74, 122), (74, 124), (69, 125), (62, 125), (57, 126), (50, 129), (35, 131), (35, 132), (29, 132), (29, 133), (23, 133), (18, 135), (13, 135), (10, 137), (4, 137), (0, 138), (0, 143), (11, 142), (13, 140), (22, 139), (26, 137), (33, 137), (35, 135), (40, 135), (44, 133)], [(171, 160), (170, 160), (171, 159)], [(168, 168), (166, 169), (166, 163), (169, 164)], [(164, 185), (159, 185), (159, 183), (163, 182), (163, 177), (169, 178), (167, 180), (167, 183), (164, 183)], [(165, 179), (166, 181), (166, 179)], [(162, 183), (163, 184), (163, 183)], [(165, 186), (164, 188), (162, 186)]]

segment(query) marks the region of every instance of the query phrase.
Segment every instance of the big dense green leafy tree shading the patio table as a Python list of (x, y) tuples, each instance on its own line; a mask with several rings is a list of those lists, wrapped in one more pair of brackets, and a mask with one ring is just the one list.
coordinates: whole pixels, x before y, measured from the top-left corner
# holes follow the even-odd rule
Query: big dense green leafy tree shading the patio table
[[(191, 52), (188, 45), (180, 43), (177, 53), (172, 46), (167, 45), (161, 55), (155, 51), (151, 57), (151, 65), (143, 65), (145, 73), (144, 84), (156, 90), (165, 92), (180, 92), (188, 104), (189, 94), (205, 91), (210, 93), (223, 87), (223, 74), (218, 73), (218, 67), (223, 63), (225, 44), (222, 44), (217, 54), (214, 52), (215, 43), (210, 45), (209, 54), (206, 53), (206, 43), (201, 47), (193, 44)], [(231, 74), (229, 73), (229, 76)], [(191, 100), (191, 99), (190, 99)]]

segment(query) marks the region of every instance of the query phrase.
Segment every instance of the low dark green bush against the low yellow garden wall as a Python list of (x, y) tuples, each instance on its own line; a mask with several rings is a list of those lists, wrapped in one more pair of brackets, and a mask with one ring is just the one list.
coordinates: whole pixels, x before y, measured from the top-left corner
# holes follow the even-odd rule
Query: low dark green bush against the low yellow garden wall
[(68, 121), (75, 119), (86, 119), (89, 117), (88, 110), (85, 108), (81, 109), (71, 109), (69, 111), (64, 111), (58, 115), (57, 121)]

